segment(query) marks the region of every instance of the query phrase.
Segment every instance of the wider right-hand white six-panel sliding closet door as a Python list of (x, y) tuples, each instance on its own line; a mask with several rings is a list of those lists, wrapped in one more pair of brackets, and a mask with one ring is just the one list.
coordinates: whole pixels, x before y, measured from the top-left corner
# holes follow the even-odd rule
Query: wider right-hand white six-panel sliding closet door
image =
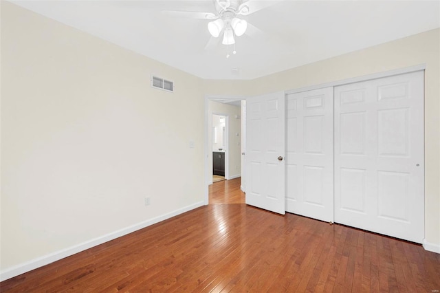
[(423, 72), (335, 87), (335, 221), (421, 243)]

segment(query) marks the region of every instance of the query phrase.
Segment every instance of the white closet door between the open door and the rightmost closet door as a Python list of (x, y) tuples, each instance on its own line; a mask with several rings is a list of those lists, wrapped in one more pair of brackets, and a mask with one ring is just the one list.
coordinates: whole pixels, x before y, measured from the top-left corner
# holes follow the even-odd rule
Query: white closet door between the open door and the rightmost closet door
[(333, 221), (333, 87), (287, 96), (286, 211)]

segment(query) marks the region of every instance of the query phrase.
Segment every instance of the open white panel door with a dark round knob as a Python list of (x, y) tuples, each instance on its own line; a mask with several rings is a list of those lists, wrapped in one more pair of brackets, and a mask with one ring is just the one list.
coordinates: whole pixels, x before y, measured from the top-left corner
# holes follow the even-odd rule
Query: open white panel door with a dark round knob
[(285, 214), (285, 94), (246, 99), (246, 195), (251, 206)]

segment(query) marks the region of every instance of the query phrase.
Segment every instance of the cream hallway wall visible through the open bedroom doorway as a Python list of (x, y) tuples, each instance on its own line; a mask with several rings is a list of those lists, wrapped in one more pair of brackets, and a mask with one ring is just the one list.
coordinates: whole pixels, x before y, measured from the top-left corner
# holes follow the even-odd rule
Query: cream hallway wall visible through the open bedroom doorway
[[(208, 101), (208, 178), (212, 182), (212, 113), (228, 116), (228, 158), (229, 177), (241, 176), (241, 107)], [(236, 133), (239, 133), (237, 136)]]

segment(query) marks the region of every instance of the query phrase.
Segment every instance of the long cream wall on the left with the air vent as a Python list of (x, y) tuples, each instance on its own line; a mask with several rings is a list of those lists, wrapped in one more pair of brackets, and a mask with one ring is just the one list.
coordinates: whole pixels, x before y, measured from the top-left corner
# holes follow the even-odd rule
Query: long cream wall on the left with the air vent
[(1, 272), (203, 204), (203, 112), (203, 80), (1, 1)]

